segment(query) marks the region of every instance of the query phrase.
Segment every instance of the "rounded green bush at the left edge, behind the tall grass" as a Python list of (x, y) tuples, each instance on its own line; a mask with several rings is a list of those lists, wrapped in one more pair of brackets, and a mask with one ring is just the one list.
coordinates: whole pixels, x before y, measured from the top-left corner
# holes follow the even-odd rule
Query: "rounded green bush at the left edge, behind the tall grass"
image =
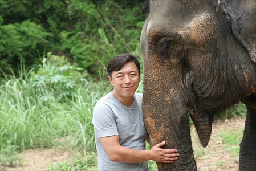
[(17, 68), (21, 59), (26, 60), (27, 64), (36, 63), (36, 51), (43, 50), (50, 35), (42, 26), (29, 20), (0, 25), (1, 68), (4, 71), (9, 67)]

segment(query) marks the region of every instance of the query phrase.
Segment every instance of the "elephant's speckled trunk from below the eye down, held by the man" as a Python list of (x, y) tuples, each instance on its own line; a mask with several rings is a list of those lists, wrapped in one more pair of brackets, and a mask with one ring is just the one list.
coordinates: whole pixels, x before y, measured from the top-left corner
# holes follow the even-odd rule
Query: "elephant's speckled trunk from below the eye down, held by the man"
[[(161, 71), (157, 70), (156, 63), (161, 66)], [(184, 75), (184, 80), (181, 70), (174, 68), (175, 63), (161, 62), (159, 58), (144, 58), (145, 127), (150, 136), (151, 146), (166, 141), (163, 148), (177, 149), (180, 154), (173, 164), (158, 164), (159, 170), (196, 170), (188, 116), (188, 99), (193, 95), (192, 92), (184, 94), (189, 92), (185, 91), (189, 86), (185, 86), (184, 83), (190, 85), (191, 76)], [(170, 84), (169, 80), (176, 81)]]

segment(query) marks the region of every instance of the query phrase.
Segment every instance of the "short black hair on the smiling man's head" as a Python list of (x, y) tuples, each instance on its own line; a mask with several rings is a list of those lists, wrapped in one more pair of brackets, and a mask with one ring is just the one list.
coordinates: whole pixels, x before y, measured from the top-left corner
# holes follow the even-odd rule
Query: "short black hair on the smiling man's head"
[(107, 67), (108, 75), (112, 77), (113, 71), (119, 71), (127, 62), (134, 62), (136, 67), (140, 73), (140, 63), (137, 57), (130, 55), (130, 54), (120, 54), (112, 58)]

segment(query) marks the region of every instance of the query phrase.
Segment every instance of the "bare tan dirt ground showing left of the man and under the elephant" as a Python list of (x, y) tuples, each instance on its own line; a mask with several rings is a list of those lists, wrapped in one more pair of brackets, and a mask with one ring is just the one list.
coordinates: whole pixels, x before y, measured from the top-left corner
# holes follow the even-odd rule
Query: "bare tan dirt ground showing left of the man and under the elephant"
[[(230, 146), (225, 145), (220, 139), (220, 132), (224, 130), (240, 131), (245, 120), (235, 118), (217, 121), (213, 124), (212, 135), (206, 148), (202, 148), (194, 126), (191, 127), (192, 143), (198, 170), (238, 170), (238, 155), (232, 157)], [(242, 135), (241, 135), (242, 136)], [(237, 145), (237, 148), (239, 146)], [(232, 146), (232, 148), (236, 148)], [(71, 161), (72, 156), (68, 151), (60, 149), (29, 149), (20, 153), (23, 160), (22, 166), (17, 168), (2, 168), (3, 170), (46, 170), (53, 163)]]

